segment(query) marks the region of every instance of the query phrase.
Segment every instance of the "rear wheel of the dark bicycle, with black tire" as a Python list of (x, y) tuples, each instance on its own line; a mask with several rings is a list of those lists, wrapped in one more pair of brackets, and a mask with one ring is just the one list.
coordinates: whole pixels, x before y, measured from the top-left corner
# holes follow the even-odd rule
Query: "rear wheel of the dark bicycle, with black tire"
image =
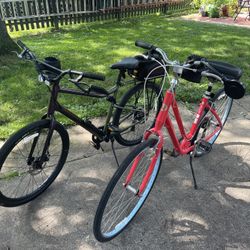
[[(143, 133), (146, 129), (152, 128), (155, 119), (162, 105), (162, 95), (160, 87), (147, 82), (145, 85), (146, 93), (146, 121), (144, 112), (144, 82), (141, 82), (131, 88), (122, 97), (119, 107), (115, 110), (113, 125), (118, 131), (124, 129), (123, 126), (130, 127), (125, 131), (118, 132), (115, 135), (116, 141), (123, 146), (133, 146), (142, 141)], [(159, 96), (156, 108), (156, 98)], [(127, 107), (127, 108), (126, 108)]]

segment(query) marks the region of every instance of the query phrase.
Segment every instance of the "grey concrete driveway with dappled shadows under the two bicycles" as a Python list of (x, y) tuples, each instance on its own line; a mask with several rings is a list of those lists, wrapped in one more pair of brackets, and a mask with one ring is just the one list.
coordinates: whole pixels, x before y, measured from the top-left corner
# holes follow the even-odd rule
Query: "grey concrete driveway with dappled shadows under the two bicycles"
[[(97, 204), (116, 170), (109, 145), (95, 151), (89, 135), (69, 129), (71, 152), (52, 186), (33, 202), (0, 207), (0, 249), (250, 249), (250, 96), (235, 102), (210, 154), (164, 156), (154, 190), (116, 239), (92, 234)], [(129, 149), (117, 147), (122, 160)]]

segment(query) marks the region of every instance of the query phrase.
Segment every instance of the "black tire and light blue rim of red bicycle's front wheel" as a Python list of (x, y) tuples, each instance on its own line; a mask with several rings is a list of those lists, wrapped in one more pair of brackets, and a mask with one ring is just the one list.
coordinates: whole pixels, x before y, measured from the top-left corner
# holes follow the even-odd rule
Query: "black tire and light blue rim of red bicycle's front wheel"
[[(144, 204), (144, 202), (146, 201), (150, 191), (152, 190), (152, 187), (155, 183), (155, 180), (157, 178), (157, 175), (159, 173), (160, 170), (160, 166), (161, 166), (161, 161), (162, 161), (162, 150), (161, 153), (159, 154), (156, 163), (154, 165), (154, 170), (150, 176), (149, 181), (147, 182), (146, 188), (144, 189), (144, 191), (142, 192), (142, 194), (140, 196), (135, 195), (134, 193), (131, 193), (130, 191), (128, 191), (128, 189), (126, 189), (123, 185), (125, 178), (127, 176), (127, 171), (126, 170), (130, 170), (131, 169), (131, 164), (133, 164), (134, 160), (142, 153), (145, 152), (144, 156), (142, 158), (140, 158), (140, 163), (138, 166), (140, 166), (140, 168), (137, 167), (135, 173), (134, 173), (134, 179), (131, 179), (131, 182), (129, 182), (129, 185), (132, 184), (133, 186), (136, 185), (136, 187), (139, 187), (141, 179), (138, 179), (137, 176), (138, 173), (142, 174), (142, 178), (144, 176), (144, 171), (143, 167), (148, 167), (149, 165), (147, 163), (150, 163), (152, 161), (152, 158), (150, 158), (150, 155), (147, 154), (147, 150), (151, 150), (157, 143), (157, 139), (149, 139), (147, 141), (144, 141), (143, 143), (139, 144), (127, 157), (126, 159), (123, 161), (123, 163), (121, 164), (121, 166), (117, 169), (117, 171), (115, 172), (115, 174), (113, 175), (112, 179), (110, 180), (108, 186), (106, 187), (101, 200), (99, 202), (96, 214), (95, 214), (95, 219), (94, 219), (94, 225), (93, 225), (93, 232), (94, 235), (96, 237), (96, 239), (100, 242), (105, 242), (105, 241), (109, 241), (111, 239), (113, 239), (114, 237), (116, 237), (118, 234), (120, 234), (127, 226), (128, 224), (133, 220), (133, 218), (136, 216), (136, 214), (138, 213), (138, 211), (140, 210), (140, 208), (142, 207), (142, 205)], [(153, 153), (153, 155), (155, 155), (155, 151), (153, 152), (151, 150), (151, 152)], [(151, 153), (150, 152), (150, 153)], [(148, 157), (147, 157), (148, 156)], [(139, 156), (140, 157), (140, 156)], [(146, 162), (146, 164), (144, 165), (144, 160), (149, 160), (149, 162)], [(137, 172), (138, 171), (138, 172)], [(133, 182), (135, 181), (135, 183)], [(119, 185), (120, 184), (120, 185)], [(118, 190), (118, 194), (116, 194), (116, 190)], [(120, 192), (121, 191), (121, 192)], [(126, 199), (128, 195), (131, 195), (132, 200)], [(118, 198), (117, 200), (115, 198)], [(130, 197), (130, 199), (131, 199)], [(137, 199), (138, 198), (138, 199)], [(113, 199), (113, 200), (112, 200)], [(135, 203), (132, 205), (132, 201), (135, 201)], [(118, 216), (118, 212), (126, 212), (124, 210), (124, 207), (121, 205), (122, 202), (125, 202), (125, 210), (128, 211), (129, 208), (131, 208), (131, 210), (128, 211), (128, 215), (124, 215), (125, 217), (120, 217), (120, 215)], [(116, 207), (115, 205), (118, 205), (118, 207)], [(132, 205), (130, 207), (130, 205)], [(110, 209), (109, 210), (109, 206)], [(115, 209), (117, 209), (117, 211), (115, 211)], [(111, 212), (110, 212), (111, 211)], [(113, 213), (112, 213), (113, 211)], [(118, 216), (116, 219), (121, 218), (121, 220), (118, 220), (117, 223), (113, 222), (114, 229), (111, 230), (110, 228), (110, 232), (104, 232), (103, 230), (103, 224), (107, 221), (109, 222), (110, 218), (105, 218), (105, 216), (107, 216), (110, 213), (111, 216), (113, 216), (113, 214), (115, 216)], [(105, 221), (107, 219), (107, 221)], [(115, 225), (114, 225), (115, 224)]]

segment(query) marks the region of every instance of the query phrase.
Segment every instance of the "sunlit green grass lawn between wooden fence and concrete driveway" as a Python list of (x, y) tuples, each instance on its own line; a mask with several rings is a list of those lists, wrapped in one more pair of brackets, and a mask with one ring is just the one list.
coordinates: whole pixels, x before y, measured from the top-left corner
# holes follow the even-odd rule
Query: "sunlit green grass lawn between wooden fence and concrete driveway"
[[(141, 53), (134, 46), (134, 41), (141, 39), (165, 49), (170, 59), (184, 61), (188, 55), (198, 54), (237, 65), (244, 70), (242, 81), (250, 91), (250, 30), (246, 28), (152, 15), (68, 26), (57, 32), (47, 29), (11, 33), (11, 36), (14, 40), (21, 39), (39, 58), (58, 57), (64, 69), (105, 74), (106, 82), (100, 83), (105, 87), (112, 86), (117, 75), (109, 66), (123, 57)], [(0, 57), (0, 138), (6, 138), (46, 112), (48, 91), (36, 79), (32, 63), (15, 55)], [(203, 89), (202, 84), (185, 83), (178, 89), (179, 98), (196, 101)], [(61, 97), (61, 100), (81, 117), (103, 115), (108, 107), (108, 103), (98, 99)]]

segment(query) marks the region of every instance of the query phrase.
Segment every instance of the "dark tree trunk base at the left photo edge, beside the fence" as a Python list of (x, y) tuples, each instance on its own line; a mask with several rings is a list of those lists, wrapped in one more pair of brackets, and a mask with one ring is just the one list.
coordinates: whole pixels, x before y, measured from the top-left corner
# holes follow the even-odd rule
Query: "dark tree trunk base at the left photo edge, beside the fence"
[(5, 23), (0, 17), (0, 55), (10, 53), (13, 50), (17, 50), (17, 45), (10, 38)]

